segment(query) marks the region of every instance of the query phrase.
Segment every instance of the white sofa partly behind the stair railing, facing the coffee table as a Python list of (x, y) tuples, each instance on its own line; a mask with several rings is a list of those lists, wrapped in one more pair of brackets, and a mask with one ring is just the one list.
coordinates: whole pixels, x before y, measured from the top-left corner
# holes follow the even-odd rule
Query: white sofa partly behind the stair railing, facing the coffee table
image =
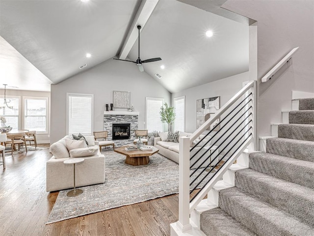
[[(162, 133), (159, 133), (159, 136), (160, 137), (155, 137), (154, 138), (154, 146), (156, 148), (159, 149), (158, 153), (167, 157), (168, 159), (176, 162), (179, 164), (179, 143), (173, 143), (173, 142), (167, 142), (167, 135), (168, 135), (168, 132), (162, 132)], [(185, 132), (179, 132), (179, 137), (190, 137), (192, 134), (191, 133), (185, 133)], [(193, 142), (193, 145), (195, 145), (198, 141), (200, 141), (201, 139), (204, 138), (205, 135), (200, 135), (198, 139), (196, 139), (194, 142)], [(210, 138), (210, 137), (209, 137)], [(208, 139), (209, 139), (208, 138)], [(180, 139), (179, 139), (180, 140)], [(206, 143), (208, 140), (204, 139), (202, 141), (202, 143)], [(210, 142), (207, 144), (207, 148), (210, 146)], [(191, 146), (193, 147), (193, 146)], [(198, 148), (198, 147), (197, 147)], [(212, 146), (210, 147), (210, 152), (218, 152), (218, 148), (217, 146)], [(214, 154), (212, 154), (212, 157), (214, 156)], [(195, 161), (196, 160), (191, 160), (190, 161), (190, 166), (192, 166), (191, 169), (195, 169), (196, 167), (200, 166), (200, 164), (205, 160), (206, 158), (206, 155), (204, 155), (204, 157), (202, 157), (199, 161), (197, 161), (196, 164)], [(195, 159), (197, 159), (197, 157), (195, 157)], [(218, 160), (215, 160), (212, 165), (216, 164)], [(206, 167), (207, 165), (209, 165), (210, 161), (207, 160), (206, 162), (204, 162), (204, 164), (201, 166), (201, 167)]]

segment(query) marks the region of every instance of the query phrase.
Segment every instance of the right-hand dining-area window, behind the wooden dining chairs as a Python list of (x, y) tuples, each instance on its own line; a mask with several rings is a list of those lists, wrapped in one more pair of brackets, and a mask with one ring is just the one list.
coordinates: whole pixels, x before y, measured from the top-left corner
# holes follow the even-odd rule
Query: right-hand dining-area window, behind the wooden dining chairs
[(48, 97), (24, 97), (24, 128), (48, 132)]

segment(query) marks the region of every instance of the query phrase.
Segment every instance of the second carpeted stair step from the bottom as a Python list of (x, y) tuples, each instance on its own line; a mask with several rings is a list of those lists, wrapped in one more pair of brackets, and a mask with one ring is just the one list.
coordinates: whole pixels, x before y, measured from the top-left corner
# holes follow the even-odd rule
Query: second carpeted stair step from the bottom
[(220, 192), (219, 207), (258, 235), (313, 236), (310, 224), (236, 187)]

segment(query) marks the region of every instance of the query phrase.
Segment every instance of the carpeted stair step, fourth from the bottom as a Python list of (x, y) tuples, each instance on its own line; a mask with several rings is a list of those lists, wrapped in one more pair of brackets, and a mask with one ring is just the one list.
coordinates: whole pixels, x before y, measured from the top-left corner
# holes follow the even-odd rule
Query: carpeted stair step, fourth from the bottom
[(259, 154), (250, 154), (249, 158), (249, 167), (253, 170), (314, 189), (313, 165), (295, 165), (294, 163), (288, 163), (276, 158), (267, 158)]

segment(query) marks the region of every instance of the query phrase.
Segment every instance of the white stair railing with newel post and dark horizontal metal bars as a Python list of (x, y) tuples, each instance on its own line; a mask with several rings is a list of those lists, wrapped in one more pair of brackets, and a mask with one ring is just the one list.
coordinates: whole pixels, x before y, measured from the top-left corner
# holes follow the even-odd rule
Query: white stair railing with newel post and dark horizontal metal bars
[[(236, 158), (249, 145), (255, 145), (256, 133), (256, 81), (249, 82), (239, 92), (235, 94), (221, 109), (219, 109), (211, 118), (209, 118), (200, 128), (198, 128), (189, 138), (180, 137), (179, 142), (179, 221), (176, 222), (176, 229), (181, 233), (191, 230), (189, 214), (209, 193), (213, 185), (223, 176), (228, 168), (234, 163)], [(195, 145), (190, 148), (193, 141), (203, 134), (217, 119), (220, 122), (216, 124), (209, 133)], [(214, 131), (219, 127), (218, 131)], [(211, 137), (209, 134), (211, 133)], [(210, 146), (209, 144), (212, 143)], [(217, 146), (215, 146), (217, 145)], [(207, 150), (215, 147), (215, 155)], [(194, 149), (194, 150), (193, 150)], [(203, 151), (205, 150), (206, 151)], [(252, 149), (255, 150), (255, 147)], [(203, 152), (202, 152), (203, 151)], [(224, 157), (225, 162), (221, 162), (220, 157)], [(198, 163), (194, 170), (190, 170), (192, 159), (197, 158), (194, 163)], [(218, 162), (217, 162), (218, 160)], [(208, 174), (215, 168), (220, 168), (213, 176), (202, 178), (201, 174), (206, 169), (204, 163), (209, 163), (205, 168), (209, 170)], [(222, 164), (223, 163), (223, 164)], [(217, 168), (216, 168), (217, 169)], [(190, 174), (190, 171), (192, 174)], [(201, 171), (201, 174), (198, 174)], [(206, 173), (206, 172), (205, 172)], [(197, 175), (193, 179), (193, 175)], [(208, 175), (207, 174), (207, 175)], [(192, 181), (191, 181), (192, 180)], [(204, 183), (205, 181), (205, 183)], [(196, 194), (192, 190), (190, 182), (201, 187)], [(173, 226), (171, 232), (174, 232)], [(177, 235), (177, 234), (171, 234)]]

